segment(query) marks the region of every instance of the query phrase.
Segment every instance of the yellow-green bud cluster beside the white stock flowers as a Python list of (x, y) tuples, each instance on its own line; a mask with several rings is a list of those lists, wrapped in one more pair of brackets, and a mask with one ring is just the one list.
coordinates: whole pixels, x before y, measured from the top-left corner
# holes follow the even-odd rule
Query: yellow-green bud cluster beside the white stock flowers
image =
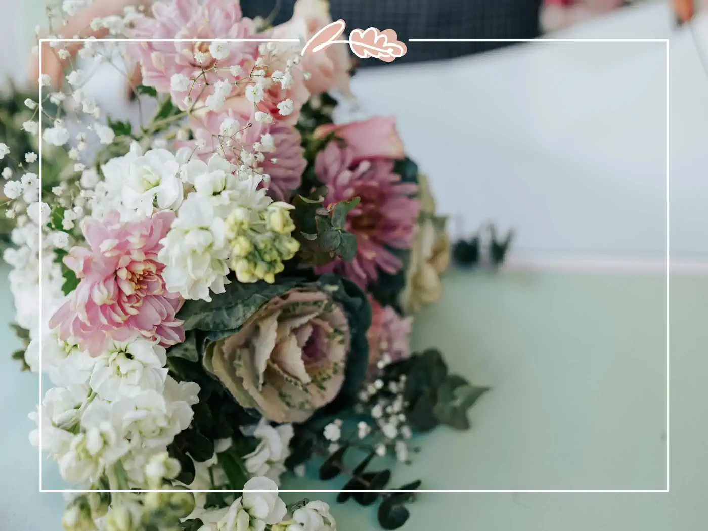
[(295, 223), (290, 219), (294, 208), (286, 202), (272, 202), (263, 210), (237, 208), (226, 220), (231, 248), (231, 268), (239, 282), (265, 280), (275, 282), (275, 275), (299, 251), (294, 237)]

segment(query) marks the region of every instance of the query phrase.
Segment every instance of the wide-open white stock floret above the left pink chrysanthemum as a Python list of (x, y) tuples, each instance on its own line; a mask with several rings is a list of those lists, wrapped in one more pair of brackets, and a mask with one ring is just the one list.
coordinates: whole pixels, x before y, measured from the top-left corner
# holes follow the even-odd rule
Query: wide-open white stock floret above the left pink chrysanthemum
[(149, 149), (130, 163), (122, 200), (129, 210), (142, 216), (159, 210), (175, 209), (182, 202), (183, 187), (178, 177), (179, 164), (166, 149)]

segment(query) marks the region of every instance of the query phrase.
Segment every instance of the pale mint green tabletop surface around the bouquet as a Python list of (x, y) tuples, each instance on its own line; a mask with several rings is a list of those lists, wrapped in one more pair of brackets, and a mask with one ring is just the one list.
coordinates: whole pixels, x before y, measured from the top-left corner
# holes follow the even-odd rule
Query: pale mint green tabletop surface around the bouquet
[[(423, 451), (396, 468), (392, 486), (420, 477), (428, 489), (665, 488), (663, 277), (455, 271), (445, 290), (418, 317), (413, 344), (437, 346), (452, 370), (493, 391), (472, 409), (469, 432), (441, 428), (419, 439)], [(0, 294), (8, 322), (6, 283)], [(670, 493), (422, 493), (403, 529), (704, 530), (707, 300), (708, 279), (672, 280)], [(59, 531), (62, 495), (38, 493), (27, 438), (37, 377), (18, 372), (9, 359), (16, 340), (5, 328), (0, 334), (0, 530)], [(51, 464), (44, 486), (62, 486)], [(309, 497), (333, 503), (334, 495)], [(375, 507), (333, 505), (339, 530), (377, 529)]]

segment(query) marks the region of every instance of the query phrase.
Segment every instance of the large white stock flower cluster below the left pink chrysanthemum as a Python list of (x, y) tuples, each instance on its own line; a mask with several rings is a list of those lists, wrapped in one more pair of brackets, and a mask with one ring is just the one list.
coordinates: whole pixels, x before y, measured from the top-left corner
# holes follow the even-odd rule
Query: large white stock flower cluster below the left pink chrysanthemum
[[(37, 343), (28, 350), (38, 350)], [(188, 428), (198, 384), (176, 382), (164, 367), (165, 349), (139, 336), (108, 341), (97, 357), (51, 332), (43, 346), (43, 365), (58, 387), (42, 401), (42, 450), (57, 461), (62, 478), (97, 481), (120, 460), (132, 484), (144, 484), (149, 458)], [(38, 430), (30, 439), (38, 443)]]

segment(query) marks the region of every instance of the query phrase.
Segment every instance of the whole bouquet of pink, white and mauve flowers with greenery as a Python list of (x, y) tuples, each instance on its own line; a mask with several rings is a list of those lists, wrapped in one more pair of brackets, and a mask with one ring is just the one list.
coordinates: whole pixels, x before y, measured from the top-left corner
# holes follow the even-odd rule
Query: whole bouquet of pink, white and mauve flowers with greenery
[[(236, 2), (159, 1), (91, 22), (130, 41), (44, 45), (65, 69), (40, 76), (22, 127), (66, 157), (45, 161), (64, 161), (47, 188), (38, 154), (0, 144), (4, 258), (18, 357), (55, 386), (30, 439), (84, 489), (67, 531), (333, 530), (326, 503), (278, 497), (287, 474), (348, 476), (338, 501), (378, 501), (395, 529), (420, 481), (377, 461), (469, 428), (486, 389), (409, 348), (445, 220), (394, 120), (333, 123), (346, 47), (302, 53), (329, 23), (321, 1), (275, 28)], [(139, 67), (139, 122), (105, 115), (97, 65)]]

